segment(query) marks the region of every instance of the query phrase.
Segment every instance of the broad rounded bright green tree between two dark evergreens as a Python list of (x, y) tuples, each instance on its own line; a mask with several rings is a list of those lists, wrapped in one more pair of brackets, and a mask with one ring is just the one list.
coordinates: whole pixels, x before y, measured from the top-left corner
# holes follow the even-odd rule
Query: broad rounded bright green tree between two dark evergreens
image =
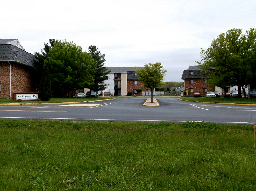
[(89, 53), (83, 52), (80, 46), (72, 42), (60, 41), (48, 53), (45, 66), (51, 73), (52, 90), (85, 88), (94, 83), (97, 63)]

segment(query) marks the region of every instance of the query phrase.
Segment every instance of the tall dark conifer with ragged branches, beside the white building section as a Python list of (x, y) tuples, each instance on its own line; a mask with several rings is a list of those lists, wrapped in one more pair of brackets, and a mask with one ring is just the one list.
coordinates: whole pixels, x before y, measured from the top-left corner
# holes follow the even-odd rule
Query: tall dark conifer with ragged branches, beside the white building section
[(97, 67), (94, 73), (94, 83), (90, 84), (88, 88), (90, 88), (90, 96), (91, 91), (98, 91), (106, 89), (106, 86), (109, 84), (104, 84), (104, 81), (108, 79), (107, 74), (110, 73), (107, 67), (104, 66), (105, 64), (105, 54), (101, 54), (100, 50), (93, 45), (88, 47), (89, 54), (92, 56), (92, 59), (96, 61)]

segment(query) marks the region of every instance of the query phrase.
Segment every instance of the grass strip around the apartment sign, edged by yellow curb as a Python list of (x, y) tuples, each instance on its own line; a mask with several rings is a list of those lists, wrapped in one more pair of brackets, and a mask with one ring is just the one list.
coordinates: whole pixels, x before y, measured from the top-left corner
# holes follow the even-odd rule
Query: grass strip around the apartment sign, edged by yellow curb
[[(110, 97), (111, 98), (111, 97)], [(84, 101), (93, 101), (93, 100), (103, 100), (110, 99), (106, 97), (91, 97), (91, 98), (83, 98), (83, 97), (75, 97), (75, 98), (67, 98), (67, 97), (52, 97), (49, 101), (12, 101), (12, 99), (8, 98), (0, 98), (0, 103), (55, 103), (55, 102), (84, 102)]]

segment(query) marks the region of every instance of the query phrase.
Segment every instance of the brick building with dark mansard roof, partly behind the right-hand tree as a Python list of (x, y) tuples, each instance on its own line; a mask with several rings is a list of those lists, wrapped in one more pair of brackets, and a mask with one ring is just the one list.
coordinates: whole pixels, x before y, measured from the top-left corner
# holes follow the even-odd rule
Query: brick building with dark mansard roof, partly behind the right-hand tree
[(184, 70), (181, 79), (184, 80), (188, 95), (193, 95), (195, 92), (205, 95), (207, 91), (215, 90), (215, 87), (210, 87), (207, 84), (207, 76), (201, 73), (201, 69), (197, 65), (189, 66), (187, 70)]

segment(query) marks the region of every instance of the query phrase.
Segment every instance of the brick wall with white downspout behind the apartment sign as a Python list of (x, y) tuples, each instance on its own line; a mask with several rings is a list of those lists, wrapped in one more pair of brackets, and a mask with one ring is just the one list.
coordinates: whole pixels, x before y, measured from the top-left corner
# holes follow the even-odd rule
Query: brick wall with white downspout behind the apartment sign
[[(17, 63), (11, 63), (11, 97), (14, 92), (35, 92), (35, 84), (32, 79), (33, 68)], [(9, 98), (10, 95), (10, 65), (0, 63), (0, 97)]]

